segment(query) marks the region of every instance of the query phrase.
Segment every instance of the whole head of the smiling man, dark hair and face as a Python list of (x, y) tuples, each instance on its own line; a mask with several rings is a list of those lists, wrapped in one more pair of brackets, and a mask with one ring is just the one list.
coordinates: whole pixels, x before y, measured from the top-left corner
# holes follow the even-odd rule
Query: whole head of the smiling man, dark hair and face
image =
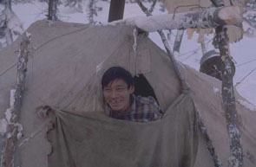
[(135, 92), (133, 76), (122, 67), (110, 67), (102, 76), (103, 96), (116, 112), (125, 112), (130, 106), (130, 95)]

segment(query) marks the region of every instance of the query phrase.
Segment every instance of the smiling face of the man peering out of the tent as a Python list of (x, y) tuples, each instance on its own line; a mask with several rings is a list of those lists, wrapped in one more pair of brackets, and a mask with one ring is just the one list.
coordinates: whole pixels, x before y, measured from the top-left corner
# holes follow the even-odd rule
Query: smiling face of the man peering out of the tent
[(130, 106), (130, 94), (135, 92), (135, 87), (128, 88), (128, 84), (121, 79), (113, 80), (107, 87), (103, 87), (104, 99), (116, 112), (125, 112)]

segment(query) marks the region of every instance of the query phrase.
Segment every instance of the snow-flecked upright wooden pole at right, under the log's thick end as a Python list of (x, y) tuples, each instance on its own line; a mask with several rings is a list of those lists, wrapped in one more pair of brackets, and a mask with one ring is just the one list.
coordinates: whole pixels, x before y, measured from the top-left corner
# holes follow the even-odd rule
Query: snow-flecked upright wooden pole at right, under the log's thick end
[[(216, 6), (224, 6), (222, 0), (211, 0)], [(220, 49), (221, 78), (222, 78), (222, 100), (225, 108), (226, 127), (229, 134), (229, 167), (243, 166), (243, 150), (240, 141), (240, 130), (238, 127), (238, 114), (236, 110), (236, 100), (233, 92), (233, 61), (229, 50), (229, 39), (226, 34), (227, 28), (219, 26), (215, 29), (216, 45)]]

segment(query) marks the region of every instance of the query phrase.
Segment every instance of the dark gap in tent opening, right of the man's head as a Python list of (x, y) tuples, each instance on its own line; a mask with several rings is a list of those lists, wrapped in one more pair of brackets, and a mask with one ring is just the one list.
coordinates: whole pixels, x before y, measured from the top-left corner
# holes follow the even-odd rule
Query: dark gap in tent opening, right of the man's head
[(143, 97), (152, 96), (154, 100), (158, 100), (155, 96), (153, 87), (150, 86), (148, 80), (145, 78), (143, 74), (139, 74), (139, 76), (135, 76), (135, 95), (141, 95)]

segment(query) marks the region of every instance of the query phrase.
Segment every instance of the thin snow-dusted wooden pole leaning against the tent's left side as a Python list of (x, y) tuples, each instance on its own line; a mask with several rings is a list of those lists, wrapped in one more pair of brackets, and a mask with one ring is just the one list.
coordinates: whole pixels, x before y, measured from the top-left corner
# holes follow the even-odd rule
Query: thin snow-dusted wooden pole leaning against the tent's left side
[(23, 41), (20, 44), (20, 50), (17, 62), (17, 75), (16, 75), (16, 90), (14, 95), (14, 106), (11, 108), (11, 118), (9, 132), (6, 138), (4, 166), (14, 166), (14, 151), (16, 150), (16, 140), (18, 134), (19, 115), (23, 101), (24, 80), (26, 78), (27, 63), (29, 55), (31, 55), (30, 34), (23, 34)]

